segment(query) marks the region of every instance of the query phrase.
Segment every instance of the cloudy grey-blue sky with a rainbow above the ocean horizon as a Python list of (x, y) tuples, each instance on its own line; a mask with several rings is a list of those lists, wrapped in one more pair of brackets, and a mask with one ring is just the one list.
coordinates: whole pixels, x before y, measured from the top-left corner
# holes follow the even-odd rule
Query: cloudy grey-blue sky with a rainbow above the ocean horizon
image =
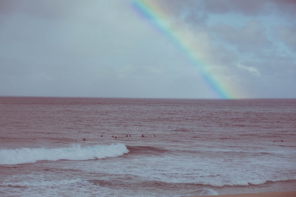
[(294, 0), (0, 0), (0, 96), (296, 98)]

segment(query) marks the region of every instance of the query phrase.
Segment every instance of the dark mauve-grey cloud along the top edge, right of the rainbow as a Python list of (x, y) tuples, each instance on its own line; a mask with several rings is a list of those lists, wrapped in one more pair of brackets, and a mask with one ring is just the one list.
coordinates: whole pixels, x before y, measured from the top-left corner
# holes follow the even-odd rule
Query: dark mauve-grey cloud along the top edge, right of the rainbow
[(295, 0), (158, 0), (157, 2), (175, 17), (184, 17), (186, 22), (204, 24), (208, 14), (235, 13), (245, 16), (275, 15), (294, 20), (296, 17)]

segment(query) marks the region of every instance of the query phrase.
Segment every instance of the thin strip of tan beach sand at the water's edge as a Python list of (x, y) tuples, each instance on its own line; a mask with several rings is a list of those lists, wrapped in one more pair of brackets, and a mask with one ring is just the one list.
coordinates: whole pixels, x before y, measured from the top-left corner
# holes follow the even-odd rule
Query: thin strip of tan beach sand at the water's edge
[(243, 193), (243, 194), (223, 194), (223, 195), (191, 196), (191, 197), (296, 197), (296, 191), (266, 192), (266, 193)]

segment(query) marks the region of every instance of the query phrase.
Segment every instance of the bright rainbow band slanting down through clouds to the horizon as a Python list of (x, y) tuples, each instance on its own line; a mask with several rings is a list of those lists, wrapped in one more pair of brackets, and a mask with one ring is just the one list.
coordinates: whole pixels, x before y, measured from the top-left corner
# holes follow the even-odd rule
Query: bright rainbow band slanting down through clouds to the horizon
[(207, 68), (207, 64), (202, 61), (202, 56), (205, 56), (205, 54), (202, 54), (202, 48), (198, 48), (197, 44), (192, 42), (190, 35), (186, 35), (183, 31), (174, 31), (173, 27), (167, 23), (170, 13), (169, 10), (165, 9), (165, 6), (161, 6), (158, 1), (151, 0), (131, 0), (130, 3), (140, 17), (168, 37), (189, 58), (190, 62), (197, 67), (199, 74), (208, 86), (207, 88), (214, 92), (215, 97), (221, 99), (236, 97), (236, 92), (230, 86), (230, 83), (224, 79), (219, 79), (218, 76)]

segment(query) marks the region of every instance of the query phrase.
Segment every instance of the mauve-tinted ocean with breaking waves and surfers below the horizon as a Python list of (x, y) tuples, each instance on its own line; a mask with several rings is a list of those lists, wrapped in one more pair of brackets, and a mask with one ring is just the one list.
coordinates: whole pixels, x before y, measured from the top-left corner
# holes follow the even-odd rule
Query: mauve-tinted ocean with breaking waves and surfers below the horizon
[(0, 196), (296, 189), (296, 99), (0, 97), (0, 111)]

